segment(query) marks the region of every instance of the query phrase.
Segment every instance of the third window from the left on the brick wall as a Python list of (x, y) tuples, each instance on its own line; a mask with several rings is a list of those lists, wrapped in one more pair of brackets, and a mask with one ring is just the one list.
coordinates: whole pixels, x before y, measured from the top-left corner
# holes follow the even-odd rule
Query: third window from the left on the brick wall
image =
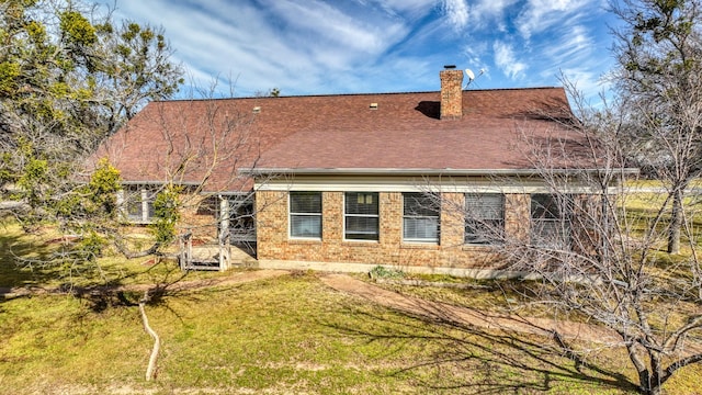
[(435, 196), (403, 193), (403, 239), (439, 242), (439, 210)]

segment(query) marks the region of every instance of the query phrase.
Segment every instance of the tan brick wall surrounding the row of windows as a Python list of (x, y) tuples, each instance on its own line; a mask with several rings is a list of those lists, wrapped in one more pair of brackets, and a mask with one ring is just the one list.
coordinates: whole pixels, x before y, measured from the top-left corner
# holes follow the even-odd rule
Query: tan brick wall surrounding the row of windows
[[(490, 249), (464, 245), (462, 193), (443, 193), (438, 244), (403, 241), (403, 194), (381, 192), (377, 241), (343, 239), (343, 192), (322, 192), (321, 240), (290, 239), (287, 193), (257, 193), (258, 258), (309, 262), (349, 262), (404, 267), (496, 269)], [(506, 195), (506, 232), (528, 235), (529, 195)], [(524, 233), (526, 232), (526, 233)]]

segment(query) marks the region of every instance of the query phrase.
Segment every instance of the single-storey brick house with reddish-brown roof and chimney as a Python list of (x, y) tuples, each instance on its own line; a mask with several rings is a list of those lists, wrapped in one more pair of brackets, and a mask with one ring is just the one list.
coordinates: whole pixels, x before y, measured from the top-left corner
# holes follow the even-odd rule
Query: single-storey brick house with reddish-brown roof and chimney
[(179, 184), (193, 198), (182, 227), (254, 245), (261, 268), (489, 275), (500, 261), (482, 230), (530, 237), (559, 215), (539, 208), (551, 195), (526, 139), (582, 140), (562, 88), (439, 75), (434, 92), (152, 102), (98, 156), (121, 170), (134, 222)]

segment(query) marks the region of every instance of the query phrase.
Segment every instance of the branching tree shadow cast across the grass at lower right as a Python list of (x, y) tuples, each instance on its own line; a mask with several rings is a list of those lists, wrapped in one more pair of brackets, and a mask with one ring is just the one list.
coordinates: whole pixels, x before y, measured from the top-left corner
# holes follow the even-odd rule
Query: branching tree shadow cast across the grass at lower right
[(390, 357), (390, 350), (417, 348), (417, 360), (400, 361), (393, 375), (409, 379), (427, 392), (500, 394), (602, 387), (636, 392), (636, 385), (623, 374), (568, 351), (562, 338), (485, 329), (420, 303), (412, 312), (393, 312), (399, 316), (347, 305), (336, 316), (353, 315), (354, 321), (361, 319), (364, 325), (351, 327), (343, 320), (324, 325), (369, 343), (381, 342), (388, 352), (383, 357)]

